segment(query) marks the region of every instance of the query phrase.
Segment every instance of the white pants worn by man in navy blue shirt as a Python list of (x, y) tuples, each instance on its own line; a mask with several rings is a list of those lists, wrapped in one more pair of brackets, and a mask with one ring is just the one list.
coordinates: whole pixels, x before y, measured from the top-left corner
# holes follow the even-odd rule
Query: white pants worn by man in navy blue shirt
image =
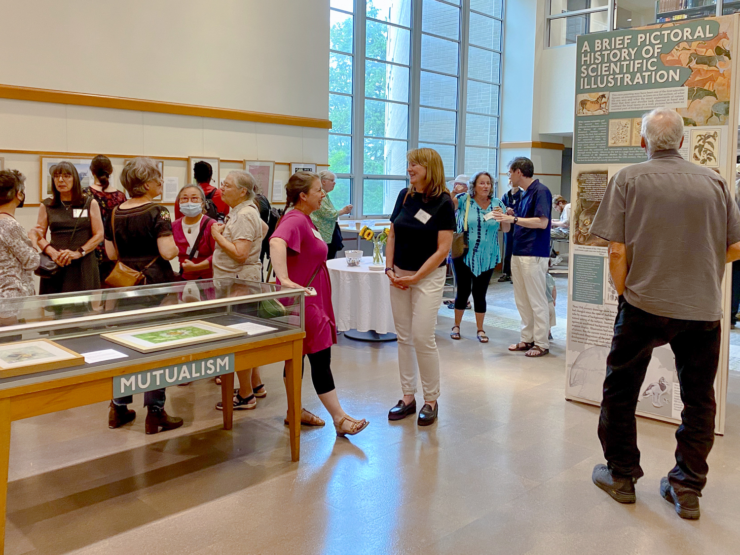
[(512, 256), (511, 281), (514, 300), (522, 317), (522, 341), (550, 349), (550, 308), (545, 294), (545, 274), (548, 258), (541, 256)]

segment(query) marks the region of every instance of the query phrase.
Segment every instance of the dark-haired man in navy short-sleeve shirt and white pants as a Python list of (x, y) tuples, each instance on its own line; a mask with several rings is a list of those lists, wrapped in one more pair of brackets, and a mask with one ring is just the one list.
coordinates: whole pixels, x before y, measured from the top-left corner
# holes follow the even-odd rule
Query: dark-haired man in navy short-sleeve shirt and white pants
[(550, 227), (553, 195), (534, 179), (534, 164), (518, 156), (508, 165), (511, 185), (522, 189), (522, 200), (511, 214), (494, 215), (499, 222), (514, 224), (511, 280), (514, 300), (522, 317), (522, 340), (509, 351), (526, 351), (528, 357), (550, 352), (550, 312), (545, 294), (545, 274), (550, 258)]

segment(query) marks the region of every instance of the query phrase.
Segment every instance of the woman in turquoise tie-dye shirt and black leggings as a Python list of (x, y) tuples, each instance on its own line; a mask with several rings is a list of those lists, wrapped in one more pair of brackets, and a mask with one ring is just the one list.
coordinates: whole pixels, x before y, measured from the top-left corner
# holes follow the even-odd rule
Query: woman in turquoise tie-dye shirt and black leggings
[[(460, 339), (460, 322), (465, 312), (468, 297), (473, 293), (475, 322), (478, 326), (477, 338), (480, 343), (488, 343), (483, 331), (485, 317), (485, 293), (491, 283), (494, 267), (501, 260), (499, 254), (499, 223), (493, 212), (505, 212), (506, 206), (494, 197), (494, 180), (488, 172), (478, 172), (468, 186), (456, 185), (453, 189), (452, 203), (457, 209), (457, 232), (468, 230), (468, 252), (455, 258), (452, 263), (457, 278), (457, 297), (455, 297), (455, 325), (450, 337)], [(467, 218), (467, 226), (465, 226)], [(502, 223), (503, 232), (508, 232), (509, 224)]]

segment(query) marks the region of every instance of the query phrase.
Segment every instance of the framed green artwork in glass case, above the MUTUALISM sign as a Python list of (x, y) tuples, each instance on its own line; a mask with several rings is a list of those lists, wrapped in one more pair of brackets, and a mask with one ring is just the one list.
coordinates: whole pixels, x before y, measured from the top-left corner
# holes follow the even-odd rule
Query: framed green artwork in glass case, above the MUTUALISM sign
[(127, 329), (125, 332), (111, 332), (101, 334), (101, 337), (129, 349), (149, 353), (218, 339), (231, 339), (243, 334), (246, 332), (204, 320), (190, 320), (149, 328)]

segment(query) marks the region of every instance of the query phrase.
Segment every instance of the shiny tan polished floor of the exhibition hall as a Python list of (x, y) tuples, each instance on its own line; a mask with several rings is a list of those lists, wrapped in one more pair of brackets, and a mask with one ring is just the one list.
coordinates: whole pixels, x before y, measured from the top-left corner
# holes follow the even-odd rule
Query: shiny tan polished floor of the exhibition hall
[[(169, 388), (167, 409), (186, 424), (155, 436), (142, 408), (109, 430), (105, 403), (13, 423), (5, 553), (740, 553), (740, 374), (730, 373), (702, 519), (689, 522), (658, 494), (673, 425), (639, 420), (645, 477), (636, 505), (619, 505), (591, 483), (603, 462), (598, 409), (563, 398), (565, 342), (533, 360), (505, 350), (514, 330), (487, 329), (482, 345), (474, 323), (461, 341), (450, 326), (440, 317), (443, 393), (428, 428), (386, 418), (400, 396), (395, 343), (340, 337), (340, 399), (371, 423), (349, 439), (304, 427), (298, 463), (277, 365), (263, 369), (268, 397), (235, 414), (231, 432), (210, 381)], [(303, 399), (328, 420), (310, 379)]]

